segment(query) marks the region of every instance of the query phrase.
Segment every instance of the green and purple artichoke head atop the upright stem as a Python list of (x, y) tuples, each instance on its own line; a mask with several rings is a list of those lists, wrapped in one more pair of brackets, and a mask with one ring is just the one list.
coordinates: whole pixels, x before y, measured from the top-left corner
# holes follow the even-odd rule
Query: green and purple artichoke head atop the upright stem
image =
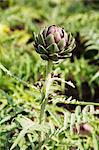
[(71, 56), (75, 39), (63, 28), (52, 25), (45, 27), (38, 35), (34, 33), (34, 47), (42, 59), (59, 61)]

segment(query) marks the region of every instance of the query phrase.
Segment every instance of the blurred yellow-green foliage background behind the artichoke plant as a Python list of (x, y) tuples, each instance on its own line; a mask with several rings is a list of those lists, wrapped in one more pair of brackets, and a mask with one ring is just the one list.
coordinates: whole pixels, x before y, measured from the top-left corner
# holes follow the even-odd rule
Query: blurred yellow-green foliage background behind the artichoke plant
[[(72, 81), (75, 88), (73, 89), (68, 85), (60, 85), (60, 87), (57, 85), (57, 88), (60, 88), (61, 93), (66, 98), (72, 96), (72, 99), (98, 103), (98, 0), (0, 0), (0, 63), (22, 80), (31, 83), (31, 85), (40, 86), (44, 77), (45, 62), (36, 54), (33, 48), (33, 32), (39, 32), (41, 28), (51, 24), (64, 27), (76, 39), (76, 48), (72, 57), (54, 68), (57, 75), (67, 81)], [(22, 129), (16, 123), (20, 114), (32, 120), (38, 120), (40, 93), (7, 76), (2, 69), (0, 69), (0, 89), (2, 89), (0, 92), (0, 149), (8, 150)], [(60, 91), (57, 92), (57, 96), (59, 96)], [(59, 99), (57, 96), (56, 100)], [(52, 116), (52, 118), (48, 117), (48, 120), (53, 130), (53, 128), (61, 126), (60, 122), (63, 122), (63, 116), (59, 119), (59, 114), (56, 112), (62, 113), (63, 110), (56, 105), (50, 107), (48, 116)], [(56, 110), (54, 110), (55, 107)], [(50, 109), (53, 112), (52, 114)], [(56, 116), (53, 116), (54, 113), (56, 113)], [(88, 120), (90, 122), (91, 118), (89, 117)], [(52, 122), (54, 125), (52, 125)], [(91, 124), (93, 125), (94, 122), (96, 122), (94, 128), (97, 133), (99, 132), (97, 129), (99, 121), (93, 116)], [(72, 130), (71, 127), (70, 130)], [(76, 145), (80, 137), (73, 135), (73, 139), (69, 135), (69, 130), (62, 131), (57, 134), (57, 138), (53, 137), (52, 141), (47, 141), (47, 146), (52, 149), (55, 145), (55, 148), (59, 149), (59, 146), (62, 147), (60, 141), (63, 139), (63, 135), (67, 134), (68, 137), (71, 137), (74, 149), (77, 149), (77, 146), (81, 149), (81, 144), (83, 144), (87, 150), (91, 144), (91, 138), (94, 144), (97, 143), (96, 133)], [(36, 136), (35, 139), (33, 138), (34, 135)], [(34, 139), (36, 145), (38, 138), (36, 131), (34, 135), (32, 135), (32, 139)], [(27, 144), (25, 145), (26, 141)], [(68, 143), (65, 139), (63, 141), (63, 145), (65, 142)], [(72, 144), (65, 147), (65, 149), (72, 150)], [(31, 146), (31, 137), (28, 133), (16, 149), (22, 149), (22, 147), (22, 150), (31, 149), (35, 145)]]

